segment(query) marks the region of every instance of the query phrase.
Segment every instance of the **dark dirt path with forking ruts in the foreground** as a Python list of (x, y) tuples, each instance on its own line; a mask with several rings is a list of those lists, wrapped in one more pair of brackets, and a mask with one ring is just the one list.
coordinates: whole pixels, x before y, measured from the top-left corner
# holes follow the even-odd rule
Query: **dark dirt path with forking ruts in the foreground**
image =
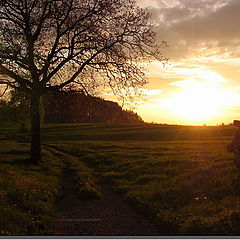
[(80, 200), (73, 176), (62, 179), (63, 197), (57, 204), (56, 231), (67, 236), (156, 236), (159, 231), (128, 202), (103, 184), (103, 197)]

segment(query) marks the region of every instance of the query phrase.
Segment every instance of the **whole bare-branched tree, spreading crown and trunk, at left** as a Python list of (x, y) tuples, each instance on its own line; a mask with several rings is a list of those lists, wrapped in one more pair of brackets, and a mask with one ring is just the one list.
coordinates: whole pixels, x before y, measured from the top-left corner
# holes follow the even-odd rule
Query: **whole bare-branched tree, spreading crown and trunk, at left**
[(141, 87), (139, 62), (163, 60), (163, 46), (135, 0), (0, 0), (0, 83), (31, 97), (31, 161), (41, 161), (43, 94)]

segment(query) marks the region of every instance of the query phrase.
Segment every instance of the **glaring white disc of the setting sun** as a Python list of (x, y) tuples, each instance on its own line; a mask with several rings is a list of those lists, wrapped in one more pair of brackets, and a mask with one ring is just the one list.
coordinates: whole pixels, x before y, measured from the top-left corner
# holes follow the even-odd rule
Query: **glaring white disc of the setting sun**
[(232, 91), (219, 84), (192, 81), (168, 99), (167, 108), (181, 118), (199, 122), (221, 114), (231, 104), (233, 96)]

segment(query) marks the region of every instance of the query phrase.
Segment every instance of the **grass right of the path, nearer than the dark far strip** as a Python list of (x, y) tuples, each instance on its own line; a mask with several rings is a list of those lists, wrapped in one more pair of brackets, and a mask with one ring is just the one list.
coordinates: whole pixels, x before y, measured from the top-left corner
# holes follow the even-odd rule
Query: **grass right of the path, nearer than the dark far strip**
[(240, 198), (232, 184), (236, 169), (225, 145), (149, 141), (61, 147), (94, 167), (166, 231), (231, 235), (238, 233), (231, 218), (233, 213), (240, 216)]

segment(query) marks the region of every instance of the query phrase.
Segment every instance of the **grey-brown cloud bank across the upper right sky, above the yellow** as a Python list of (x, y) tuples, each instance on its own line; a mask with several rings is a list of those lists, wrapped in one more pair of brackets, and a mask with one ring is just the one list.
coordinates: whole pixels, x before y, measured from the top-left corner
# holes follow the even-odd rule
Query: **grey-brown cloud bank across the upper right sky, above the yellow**
[(159, 40), (166, 40), (170, 58), (184, 58), (206, 49), (209, 55), (240, 57), (239, 0), (158, 1), (151, 9)]

